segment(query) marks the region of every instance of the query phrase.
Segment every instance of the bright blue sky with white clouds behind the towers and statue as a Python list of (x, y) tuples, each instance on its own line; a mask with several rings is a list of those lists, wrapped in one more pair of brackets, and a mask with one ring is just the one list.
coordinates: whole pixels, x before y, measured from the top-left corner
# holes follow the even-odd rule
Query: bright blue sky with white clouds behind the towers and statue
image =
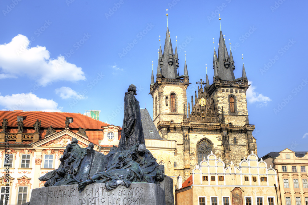
[(184, 50), (188, 102), (208, 65), (213, 82), (213, 38), (218, 13), (231, 39), (235, 77), (242, 54), (248, 80), (249, 123), (258, 155), (290, 148), (307, 151), (307, 1), (24, 1), (0, 2), (0, 109), (79, 112), (122, 126), (128, 85), (152, 116), (149, 85), (156, 74), (166, 9), (180, 75)]

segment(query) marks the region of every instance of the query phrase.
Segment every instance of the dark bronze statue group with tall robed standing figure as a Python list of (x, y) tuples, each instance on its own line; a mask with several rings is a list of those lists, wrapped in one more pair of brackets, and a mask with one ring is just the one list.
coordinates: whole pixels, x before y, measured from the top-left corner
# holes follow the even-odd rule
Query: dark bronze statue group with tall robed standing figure
[[(72, 138), (60, 158), (59, 168), (39, 178), (46, 181), (45, 187), (78, 184), (80, 190), (91, 183), (105, 183), (109, 191), (119, 185), (129, 187), (132, 182), (160, 184), (164, 180), (164, 165), (158, 165), (145, 147), (140, 106), (134, 95), (136, 86), (132, 84), (124, 97), (124, 120), (119, 147), (103, 155), (93, 150), (93, 143), (81, 148), (78, 140)], [(90, 175), (91, 170), (98, 172)]]

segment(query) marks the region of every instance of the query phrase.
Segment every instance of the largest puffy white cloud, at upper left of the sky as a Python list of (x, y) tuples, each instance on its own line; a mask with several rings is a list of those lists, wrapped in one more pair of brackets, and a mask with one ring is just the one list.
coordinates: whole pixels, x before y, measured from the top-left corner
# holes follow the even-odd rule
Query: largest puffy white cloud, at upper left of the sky
[(0, 79), (26, 75), (42, 86), (60, 80), (86, 80), (81, 67), (67, 62), (61, 55), (51, 59), (46, 47), (30, 47), (29, 44), (26, 36), (18, 34), (10, 43), (0, 45), (0, 67), (3, 72)]

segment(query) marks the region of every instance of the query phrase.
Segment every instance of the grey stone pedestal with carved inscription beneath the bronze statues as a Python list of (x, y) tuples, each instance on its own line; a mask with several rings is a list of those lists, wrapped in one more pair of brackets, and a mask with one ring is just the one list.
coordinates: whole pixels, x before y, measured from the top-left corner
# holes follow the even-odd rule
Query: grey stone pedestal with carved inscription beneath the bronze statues
[(30, 205), (47, 204), (99, 204), (99, 205), (164, 205), (165, 192), (154, 183), (131, 183), (126, 188), (118, 186), (107, 191), (105, 184), (90, 184), (82, 191), (77, 190), (77, 185), (43, 187), (32, 190)]

